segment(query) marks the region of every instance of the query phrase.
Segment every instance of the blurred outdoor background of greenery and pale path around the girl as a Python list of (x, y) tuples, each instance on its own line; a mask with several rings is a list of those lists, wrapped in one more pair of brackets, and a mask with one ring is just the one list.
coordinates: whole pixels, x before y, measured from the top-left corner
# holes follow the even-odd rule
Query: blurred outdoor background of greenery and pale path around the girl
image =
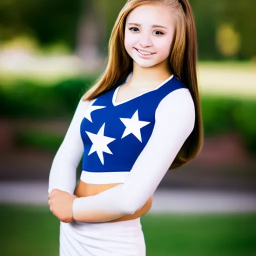
[[(50, 165), (124, 2), (0, 0), (0, 255), (58, 254)], [(141, 218), (147, 255), (256, 255), (256, 2), (190, 3), (204, 145)]]

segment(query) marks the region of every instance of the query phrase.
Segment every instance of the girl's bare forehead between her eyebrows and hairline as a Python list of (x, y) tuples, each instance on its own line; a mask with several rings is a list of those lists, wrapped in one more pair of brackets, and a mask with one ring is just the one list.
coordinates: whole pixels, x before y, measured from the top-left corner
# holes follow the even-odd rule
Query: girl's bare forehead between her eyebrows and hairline
[(137, 6), (128, 14), (126, 22), (169, 26), (173, 23), (173, 14), (171, 9), (164, 5), (143, 4)]

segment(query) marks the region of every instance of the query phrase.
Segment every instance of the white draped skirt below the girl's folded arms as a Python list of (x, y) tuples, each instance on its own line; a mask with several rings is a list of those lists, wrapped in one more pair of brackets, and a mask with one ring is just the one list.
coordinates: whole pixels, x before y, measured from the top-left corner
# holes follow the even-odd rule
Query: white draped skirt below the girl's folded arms
[(59, 256), (145, 256), (140, 218), (117, 222), (60, 222)]

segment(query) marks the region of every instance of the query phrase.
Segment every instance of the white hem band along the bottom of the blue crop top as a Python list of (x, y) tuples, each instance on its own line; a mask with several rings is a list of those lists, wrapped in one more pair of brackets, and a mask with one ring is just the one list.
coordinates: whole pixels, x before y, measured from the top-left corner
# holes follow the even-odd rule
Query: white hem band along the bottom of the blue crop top
[(123, 183), (129, 175), (129, 171), (92, 172), (82, 170), (80, 179), (90, 184)]

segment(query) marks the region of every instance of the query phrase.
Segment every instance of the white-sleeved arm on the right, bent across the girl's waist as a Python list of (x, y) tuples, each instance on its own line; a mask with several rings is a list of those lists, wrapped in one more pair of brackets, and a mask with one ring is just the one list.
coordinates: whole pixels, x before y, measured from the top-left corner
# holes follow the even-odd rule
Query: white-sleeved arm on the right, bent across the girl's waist
[(194, 127), (195, 111), (187, 89), (169, 93), (155, 112), (152, 134), (123, 184), (99, 194), (75, 198), (76, 221), (104, 222), (139, 209), (154, 193)]

